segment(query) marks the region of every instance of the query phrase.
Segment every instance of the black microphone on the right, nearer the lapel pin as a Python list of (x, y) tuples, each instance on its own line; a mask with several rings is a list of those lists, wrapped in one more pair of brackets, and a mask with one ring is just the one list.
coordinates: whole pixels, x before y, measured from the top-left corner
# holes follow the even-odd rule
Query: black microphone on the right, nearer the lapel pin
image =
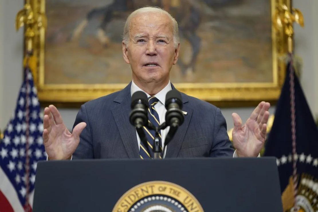
[(182, 112), (182, 97), (179, 91), (176, 89), (170, 90), (166, 95), (165, 103), (166, 123), (170, 127), (178, 127), (183, 123), (184, 117)]

